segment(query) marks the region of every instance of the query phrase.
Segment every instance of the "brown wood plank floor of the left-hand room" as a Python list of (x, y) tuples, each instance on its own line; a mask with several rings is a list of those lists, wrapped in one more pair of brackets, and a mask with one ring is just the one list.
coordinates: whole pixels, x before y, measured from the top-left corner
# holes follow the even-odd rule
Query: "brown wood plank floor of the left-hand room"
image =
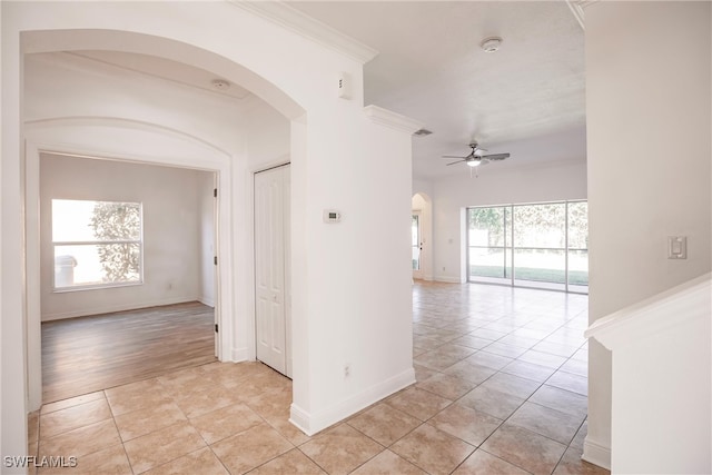
[(198, 301), (42, 324), (44, 404), (215, 362)]

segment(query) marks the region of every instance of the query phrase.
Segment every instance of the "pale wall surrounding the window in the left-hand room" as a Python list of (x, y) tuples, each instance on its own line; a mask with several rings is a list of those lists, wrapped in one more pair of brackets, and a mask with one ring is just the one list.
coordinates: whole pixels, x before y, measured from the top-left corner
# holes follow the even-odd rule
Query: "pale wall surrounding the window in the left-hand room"
[[(200, 296), (201, 195), (196, 170), (42, 154), (40, 255), (42, 321), (197, 300)], [(53, 291), (52, 199), (132, 201), (144, 212), (144, 283)], [(212, 209), (209, 209), (210, 214)], [(212, 230), (207, 229), (208, 234)], [(208, 258), (208, 264), (210, 263)]]

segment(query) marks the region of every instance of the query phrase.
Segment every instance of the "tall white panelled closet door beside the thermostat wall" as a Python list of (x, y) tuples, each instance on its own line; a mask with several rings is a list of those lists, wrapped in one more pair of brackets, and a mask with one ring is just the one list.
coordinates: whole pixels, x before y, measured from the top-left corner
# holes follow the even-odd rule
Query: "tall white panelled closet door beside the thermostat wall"
[(257, 359), (290, 376), (289, 166), (255, 174), (255, 330)]

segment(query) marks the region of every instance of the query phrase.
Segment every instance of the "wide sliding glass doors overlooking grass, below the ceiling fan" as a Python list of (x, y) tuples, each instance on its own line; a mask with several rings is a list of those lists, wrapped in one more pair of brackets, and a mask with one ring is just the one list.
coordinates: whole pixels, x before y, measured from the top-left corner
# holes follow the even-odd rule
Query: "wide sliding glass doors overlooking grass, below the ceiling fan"
[(468, 279), (589, 290), (586, 201), (467, 209)]

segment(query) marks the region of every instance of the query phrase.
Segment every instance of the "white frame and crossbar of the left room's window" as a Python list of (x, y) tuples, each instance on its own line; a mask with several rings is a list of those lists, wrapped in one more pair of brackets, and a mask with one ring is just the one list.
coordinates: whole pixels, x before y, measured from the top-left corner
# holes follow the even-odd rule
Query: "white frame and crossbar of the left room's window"
[[(97, 284), (79, 284), (72, 286), (57, 286), (57, 271), (52, 271), (52, 293), (53, 294), (63, 294), (71, 291), (82, 291), (82, 290), (98, 290), (98, 289), (107, 289), (107, 288), (120, 288), (120, 287), (132, 287), (144, 285), (144, 204), (140, 201), (130, 201), (130, 200), (105, 200), (105, 199), (71, 199), (71, 198), (52, 198), (51, 204), (53, 201), (83, 201), (83, 202), (106, 202), (106, 204), (127, 204), (127, 205), (137, 205), (138, 206), (138, 215), (139, 215), (139, 232), (137, 239), (95, 239), (95, 240), (55, 240), (53, 230), (50, 231), (51, 238), (51, 256), (52, 264), (57, 266), (57, 247), (59, 246), (106, 246), (106, 245), (120, 245), (120, 244), (129, 244), (129, 245), (138, 245), (139, 249), (139, 259), (138, 259), (138, 279), (136, 280), (127, 280), (127, 281), (102, 281)], [(50, 211), (50, 229), (53, 229), (55, 225), (55, 211), (53, 207)]]

